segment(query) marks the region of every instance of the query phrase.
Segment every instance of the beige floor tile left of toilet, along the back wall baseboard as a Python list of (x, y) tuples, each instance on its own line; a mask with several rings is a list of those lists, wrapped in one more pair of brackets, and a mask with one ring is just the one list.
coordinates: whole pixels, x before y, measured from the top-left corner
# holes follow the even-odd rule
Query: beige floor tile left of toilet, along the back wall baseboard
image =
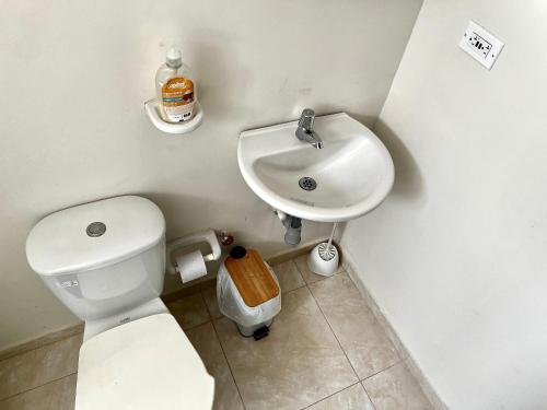
[(0, 362), (0, 399), (68, 376), (78, 370), (82, 336), (75, 335)]

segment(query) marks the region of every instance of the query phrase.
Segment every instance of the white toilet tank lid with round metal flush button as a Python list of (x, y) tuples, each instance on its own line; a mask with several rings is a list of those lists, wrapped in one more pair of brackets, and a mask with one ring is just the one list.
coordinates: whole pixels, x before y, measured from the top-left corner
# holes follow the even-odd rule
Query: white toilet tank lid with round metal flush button
[(68, 208), (44, 218), (28, 234), (26, 258), (42, 276), (102, 268), (163, 241), (165, 219), (152, 201), (124, 196)]

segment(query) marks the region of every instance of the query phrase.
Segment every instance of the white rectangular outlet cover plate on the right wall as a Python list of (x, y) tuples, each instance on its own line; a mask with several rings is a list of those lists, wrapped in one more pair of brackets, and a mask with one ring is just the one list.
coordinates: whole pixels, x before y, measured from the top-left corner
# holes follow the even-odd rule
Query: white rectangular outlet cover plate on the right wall
[(474, 21), (469, 21), (469, 25), (459, 42), (459, 47), (465, 52), (489, 70), (498, 59), (503, 46), (502, 42)]

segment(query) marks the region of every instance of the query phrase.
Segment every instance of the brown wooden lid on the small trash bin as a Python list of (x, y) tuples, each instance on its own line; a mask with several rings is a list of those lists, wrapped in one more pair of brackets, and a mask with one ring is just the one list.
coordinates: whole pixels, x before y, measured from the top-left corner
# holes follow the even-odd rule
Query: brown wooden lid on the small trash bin
[(279, 286), (255, 249), (236, 246), (224, 261), (224, 266), (249, 307), (261, 305), (279, 294)]

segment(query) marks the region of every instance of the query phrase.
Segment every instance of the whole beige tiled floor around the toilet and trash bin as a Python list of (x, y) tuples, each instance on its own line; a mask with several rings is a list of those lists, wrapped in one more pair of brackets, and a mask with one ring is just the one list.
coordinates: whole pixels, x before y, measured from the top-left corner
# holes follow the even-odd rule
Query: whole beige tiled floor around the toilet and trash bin
[[(325, 279), (305, 257), (274, 269), (282, 308), (263, 340), (240, 336), (214, 288), (168, 304), (216, 379), (214, 409), (432, 409), (346, 272)], [(73, 409), (80, 343), (0, 361), (0, 410)]]

